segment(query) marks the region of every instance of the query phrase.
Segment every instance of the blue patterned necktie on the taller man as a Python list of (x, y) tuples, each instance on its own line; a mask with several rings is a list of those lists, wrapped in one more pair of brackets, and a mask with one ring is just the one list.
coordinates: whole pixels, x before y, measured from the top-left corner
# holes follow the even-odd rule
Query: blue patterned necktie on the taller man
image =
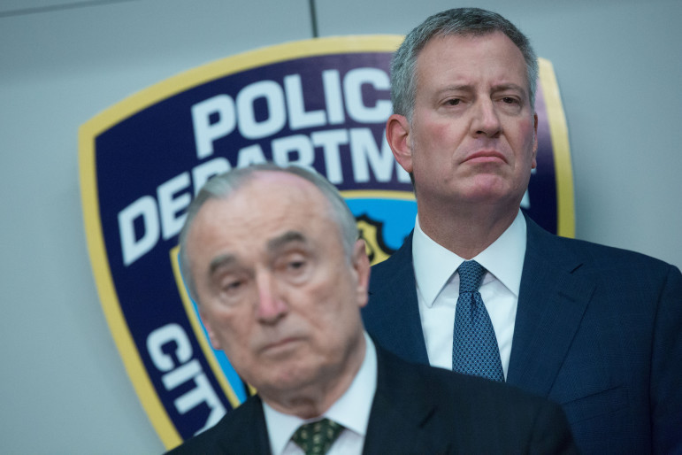
[(464, 261), (459, 271), (459, 297), (452, 338), (452, 369), (504, 382), (497, 338), (480, 297), (479, 286), (486, 274), (475, 260)]

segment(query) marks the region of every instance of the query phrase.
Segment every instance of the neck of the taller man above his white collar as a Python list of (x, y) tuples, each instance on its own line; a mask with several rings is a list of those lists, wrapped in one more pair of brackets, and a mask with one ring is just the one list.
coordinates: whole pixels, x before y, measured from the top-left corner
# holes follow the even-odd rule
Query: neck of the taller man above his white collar
[(430, 211), (418, 204), (419, 226), (425, 235), (465, 259), (474, 258), (494, 243), (517, 213), (518, 206), (474, 204)]

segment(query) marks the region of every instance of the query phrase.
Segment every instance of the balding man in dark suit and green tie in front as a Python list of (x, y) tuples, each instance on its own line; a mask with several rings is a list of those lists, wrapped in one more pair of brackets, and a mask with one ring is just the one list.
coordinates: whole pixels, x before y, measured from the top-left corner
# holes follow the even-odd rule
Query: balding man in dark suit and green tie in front
[(318, 174), (262, 165), (207, 182), (180, 234), (183, 276), (258, 395), (174, 453), (576, 452), (558, 405), (375, 348), (364, 248)]

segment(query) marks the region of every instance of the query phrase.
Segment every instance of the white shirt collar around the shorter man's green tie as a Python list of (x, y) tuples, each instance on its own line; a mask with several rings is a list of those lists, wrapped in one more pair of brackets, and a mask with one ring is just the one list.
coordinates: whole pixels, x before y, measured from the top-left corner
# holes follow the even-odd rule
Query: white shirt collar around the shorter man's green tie
[(291, 436), (294, 436), (296, 429), (303, 423), (319, 420), (321, 417), (338, 422), (350, 431), (365, 436), (374, 392), (377, 389), (377, 352), (374, 343), (372, 343), (372, 338), (366, 332), (364, 333), (364, 341), (364, 360), (355, 379), (341, 398), (319, 418), (303, 420), (295, 415), (280, 413), (263, 402), (265, 425), (268, 429), (273, 454), (284, 451)]

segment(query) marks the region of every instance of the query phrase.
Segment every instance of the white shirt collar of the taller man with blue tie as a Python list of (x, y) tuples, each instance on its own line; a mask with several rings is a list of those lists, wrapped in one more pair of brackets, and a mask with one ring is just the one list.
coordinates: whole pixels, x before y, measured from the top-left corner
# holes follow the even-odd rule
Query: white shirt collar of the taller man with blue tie
[[(516, 297), (521, 287), (525, 243), (525, 218), (519, 210), (511, 226), (486, 250), (473, 258)], [(425, 305), (430, 307), (457, 267), (464, 262), (464, 258), (460, 258), (425, 235), (417, 218), (412, 237), (412, 261), (417, 290)]]

